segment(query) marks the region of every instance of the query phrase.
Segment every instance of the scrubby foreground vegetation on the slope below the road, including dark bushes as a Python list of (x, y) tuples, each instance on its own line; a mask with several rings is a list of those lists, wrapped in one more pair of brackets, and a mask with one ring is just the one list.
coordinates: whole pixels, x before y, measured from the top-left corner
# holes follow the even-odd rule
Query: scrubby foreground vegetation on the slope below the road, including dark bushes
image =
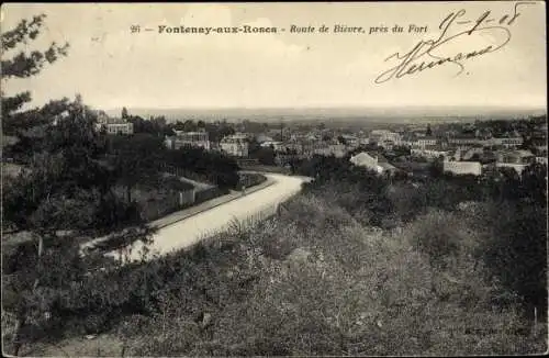
[[(547, 349), (541, 206), (513, 206), (528, 198), (452, 206), (445, 197), (417, 205), (418, 198), (391, 195), (404, 183), (362, 175), (378, 189), (361, 188), (365, 177), (355, 187), (349, 177), (347, 186), (320, 179), (257, 226), (235, 225), (153, 262), (67, 278), (72, 286), (54, 290), (51, 318), (36, 327), (53, 329), (55, 338), (44, 336), (56, 345), (107, 333), (120, 343), (109, 355), (132, 356)], [(380, 208), (400, 224), (372, 225)], [(65, 272), (75, 272), (70, 262)], [(36, 355), (44, 342), (27, 348)]]

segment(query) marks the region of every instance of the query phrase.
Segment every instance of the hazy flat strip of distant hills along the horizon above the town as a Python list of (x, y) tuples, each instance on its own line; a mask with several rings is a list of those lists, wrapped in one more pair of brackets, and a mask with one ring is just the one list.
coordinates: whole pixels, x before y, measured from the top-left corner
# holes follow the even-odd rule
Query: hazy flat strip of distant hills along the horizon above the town
[[(105, 110), (109, 115), (120, 116), (122, 109)], [(132, 115), (149, 116), (164, 115), (166, 120), (203, 120), (239, 122), (243, 120), (261, 122), (378, 122), (378, 123), (417, 123), (417, 122), (448, 122), (474, 121), (482, 119), (517, 119), (529, 115), (544, 115), (546, 109), (524, 108), (492, 108), (492, 107), (400, 107), (400, 108), (127, 108)]]

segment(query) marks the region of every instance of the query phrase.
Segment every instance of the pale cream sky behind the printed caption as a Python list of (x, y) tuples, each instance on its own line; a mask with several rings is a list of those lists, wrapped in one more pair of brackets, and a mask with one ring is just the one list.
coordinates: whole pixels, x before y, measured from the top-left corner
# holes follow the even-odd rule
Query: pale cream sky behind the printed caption
[[(33, 104), (74, 98), (112, 108), (338, 108), (338, 107), (525, 107), (547, 103), (546, 11), (544, 2), (518, 5), (505, 30), (481, 30), (436, 49), (456, 56), (508, 43), (497, 52), (376, 83), (396, 66), (393, 53), (410, 52), (440, 36), (440, 22), (460, 9), (461, 20), (485, 11), (514, 14), (516, 2), (434, 3), (8, 3), (1, 31), (45, 13), (41, 36), (19, 51), (70, 45), (67, 57), (30, 79), (2, 79), (7, 93), (31, 90)], [(142, 32), (132, 33), (132, 25)], [(362, 26), (366, 33), (290, 33), (291, 25)], [(392, 33), (399, 24), (404, 31)], [(411, 24), (427, 26), (408, 33)], [(158, 33), (172, 26), (276, 26), (277, 33)], [(482, 24), (485, 26), (486, 24)], [(370, 27), (388, 27), (369, 34)], [(468, 30), (452, 24), (446, 36)], [(153, 29), (150, 32), (144, 29)], [(285, 29), (285, 32), (280, 32)], [(445, 37), (446, 38), (446, 37)], [(495, 44), (495, 45), (494, 45)], [(438, 51), (438, 52), (437, 52)], [(10, 57), (13, 53), (2, 56)], [(425, 56), (423, 57), (425, 58)], [(402, 61), (402, 60), (401, 60)], [(421, 60), (417, 63), (417, 65)], [(410, 65), (408, 65), (410, 66)]]

